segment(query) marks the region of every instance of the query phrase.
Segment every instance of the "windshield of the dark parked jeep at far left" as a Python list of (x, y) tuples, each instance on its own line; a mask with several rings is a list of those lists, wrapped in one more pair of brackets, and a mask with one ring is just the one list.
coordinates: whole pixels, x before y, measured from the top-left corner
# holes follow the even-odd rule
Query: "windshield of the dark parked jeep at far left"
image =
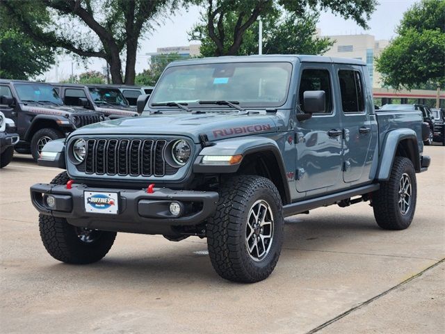
[(46, 84), (14, 84), (17, 95), (22, 102), (40, 102), (63, 104), (56, 90)]

